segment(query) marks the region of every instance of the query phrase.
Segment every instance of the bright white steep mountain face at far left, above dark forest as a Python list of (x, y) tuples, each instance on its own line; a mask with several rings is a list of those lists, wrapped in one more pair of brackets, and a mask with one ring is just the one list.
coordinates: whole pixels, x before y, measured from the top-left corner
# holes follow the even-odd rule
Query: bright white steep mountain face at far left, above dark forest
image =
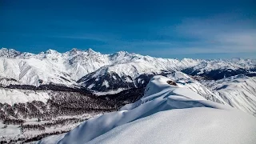
[(75, 84), (75, 81), (70, 78), (69, 74), (63, 72), (60, 66), (37, 58), (0, 58), (0, 77), (14, 80), (4, 83), (1, 81), (2, 85), (18, 83), (39, 86), (50, 82), (67, 86)]

